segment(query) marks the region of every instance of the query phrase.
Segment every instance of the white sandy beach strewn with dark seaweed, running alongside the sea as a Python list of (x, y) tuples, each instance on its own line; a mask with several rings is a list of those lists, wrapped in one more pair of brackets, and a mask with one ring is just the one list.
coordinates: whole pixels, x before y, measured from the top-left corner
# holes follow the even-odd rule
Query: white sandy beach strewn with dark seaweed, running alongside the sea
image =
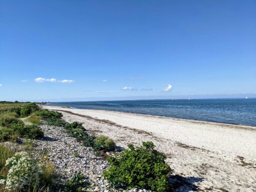
[[(120, 147), (153, 141), (183, 186), (178, 191), (256, 191), (256, 127), (124, 112), (62, 110), (94, 134), (108, 135)], [(75, 114), (66, 113), (70, 111)], [(186, 183), (187, 182), (187, 183)], [(196, 189), (195, 189), (196, 190)]]

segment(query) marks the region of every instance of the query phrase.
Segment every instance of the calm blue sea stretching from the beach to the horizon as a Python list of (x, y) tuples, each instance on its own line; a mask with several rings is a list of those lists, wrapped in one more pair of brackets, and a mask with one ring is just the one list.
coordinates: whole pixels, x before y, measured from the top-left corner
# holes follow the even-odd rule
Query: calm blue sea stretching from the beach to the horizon
[(56, 102), (49, 105), (256, 126), (256, 98)]

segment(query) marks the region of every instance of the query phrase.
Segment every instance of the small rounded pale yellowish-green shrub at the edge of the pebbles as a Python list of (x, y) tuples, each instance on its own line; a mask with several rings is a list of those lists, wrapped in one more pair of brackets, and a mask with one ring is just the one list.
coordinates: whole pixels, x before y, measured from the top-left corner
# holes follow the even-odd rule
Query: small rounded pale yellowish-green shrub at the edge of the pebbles
[(96, 151), (105, 150), (105, 151), (112, 151), (115, 149), (115, 142), (113, 139), (110, 139), (108, 136), (100, 135), (95, 140), (94, 149)]

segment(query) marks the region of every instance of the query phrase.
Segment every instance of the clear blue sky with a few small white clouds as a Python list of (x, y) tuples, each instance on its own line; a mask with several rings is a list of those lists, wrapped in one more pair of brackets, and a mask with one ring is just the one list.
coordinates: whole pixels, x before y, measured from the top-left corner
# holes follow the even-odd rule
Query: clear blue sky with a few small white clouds
[(0, 100), (245, 96), (255, 0), (0, 1)]

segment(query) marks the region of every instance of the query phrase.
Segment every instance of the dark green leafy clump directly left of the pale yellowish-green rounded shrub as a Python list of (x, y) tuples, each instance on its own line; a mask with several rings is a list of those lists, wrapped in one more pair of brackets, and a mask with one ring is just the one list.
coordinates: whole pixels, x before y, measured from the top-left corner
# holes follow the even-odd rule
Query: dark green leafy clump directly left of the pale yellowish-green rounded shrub
[(85, 147), (93, 147), (95, 143), (95, 136), (88, 135), (83, 125), (78, 122), (73, 122), (67, 124), (64, 129), (71, 137), (75, 137), (78, 140), (82, 141)]

